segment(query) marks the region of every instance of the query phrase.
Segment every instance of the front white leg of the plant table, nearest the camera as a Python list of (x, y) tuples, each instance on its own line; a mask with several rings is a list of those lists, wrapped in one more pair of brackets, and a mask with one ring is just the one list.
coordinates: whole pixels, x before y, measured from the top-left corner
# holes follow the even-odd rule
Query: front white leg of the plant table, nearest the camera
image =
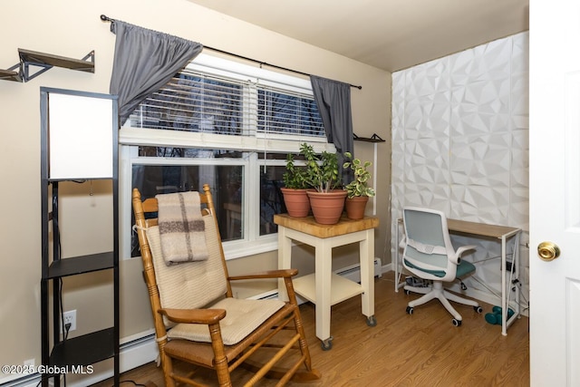
[(328, 339), (330, 335), (330, 310), (331, 310), (331, 282), (332, 282), (332, 257), (333, 247), (324, 238), (316, 242), (314, 278), (316, 281), (316, 337), (326, 343), (330, 349)]

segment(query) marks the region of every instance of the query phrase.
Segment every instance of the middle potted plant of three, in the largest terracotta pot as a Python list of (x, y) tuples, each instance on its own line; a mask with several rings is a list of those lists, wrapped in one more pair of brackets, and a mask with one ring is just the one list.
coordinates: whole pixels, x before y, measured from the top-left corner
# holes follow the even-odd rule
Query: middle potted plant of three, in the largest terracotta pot
[(312, 145), (303, 143), (300, 153), (306, 160), (306, 182), (313, 189), (306, 191), (310, 207), (317, 223), (333, 225), (343, 214), (346, 191), (337, 189), (338, 158), (336, 153), (323, 151), (320, 156), (314, 153)]

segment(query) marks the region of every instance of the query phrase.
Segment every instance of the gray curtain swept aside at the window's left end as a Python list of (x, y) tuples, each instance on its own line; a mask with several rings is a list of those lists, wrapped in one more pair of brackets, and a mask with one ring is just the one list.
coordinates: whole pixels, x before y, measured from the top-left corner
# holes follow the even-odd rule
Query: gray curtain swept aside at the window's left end
[(140, 102), (169, 82), (203, 49), (202, 44), (118, 20), (111, 23), (111, 33), (117, 38), (110, 92), (119, 96), (121, 125)]

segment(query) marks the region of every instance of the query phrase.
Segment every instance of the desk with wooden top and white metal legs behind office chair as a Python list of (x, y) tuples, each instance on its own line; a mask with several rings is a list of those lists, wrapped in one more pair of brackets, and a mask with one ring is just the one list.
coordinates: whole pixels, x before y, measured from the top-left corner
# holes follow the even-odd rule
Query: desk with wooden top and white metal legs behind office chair
[[(401, 271), (399, 266), (401, 265), (401, 257), (399, 253), (399, 227), (402, 224), (402, 219), (397, 219), (396, 236), (395, 240), (397, 242), (396, 246), (396, 264), (395, 264), (395, 292), (399, 291), (399, 287), (404, 284), (400, 284)], [(507, 308), (508, 305), (507, 294), (509, 293), (512, 285), (512, 281), (517, 280), (519, 276), (519, 235), (521, 228), (517, 227), (505, 227), (497, 225), (488, 225), (485, 223), (468, 222), (465, 220), (457, 219), (447, 219), (447, 227), (449, 227), (450, 233), (465, 234), (474, 237), (493, 237), (501, 240), (501, 309), (504, 311), (501, 318), (501, 334), (507, 335), (507, 327), (514, 323), (514, 321), (519, 317), (520, 307), (519, 307), (519, 286), (515, 286), (515, 303), (512, 310), (514, 314), (507, 319)], [(507, 240), (513, 239), (514, 243), (514, 257), (511, 262), (510, 270), (507, 270)], [(507, 275), (510, 276), (509, 281), (507, 281)]]

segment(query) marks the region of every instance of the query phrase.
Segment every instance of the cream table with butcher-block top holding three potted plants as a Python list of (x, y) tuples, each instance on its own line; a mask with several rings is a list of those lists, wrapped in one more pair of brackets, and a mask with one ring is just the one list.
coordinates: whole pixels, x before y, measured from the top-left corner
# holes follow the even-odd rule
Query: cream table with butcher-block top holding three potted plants
[[(287, 214), (274, 216), (278, 225), (278, 267), (290, 268), (292, 264), (292, 240), (314, 247), (314, 274), (296, 278), (295, 292), (316, 305), (316, 337), (322, 341), (324, 350), (332, 348), (330, 335), (331, 306), (354, 295), (362, 295), (362, 314), (367, 324), (376, 325), (374, 318), (374, 228), (379, 218), (365, 217), (361, 220), (341, 218), (335, 225), (321, 225), (313, 217), (292, 218)], [(361, 260), (361, 284), (333, 274), (333, 247), (359, 243)], [(278, 295), (287, 300), (285, 286), (278, 283)]]

